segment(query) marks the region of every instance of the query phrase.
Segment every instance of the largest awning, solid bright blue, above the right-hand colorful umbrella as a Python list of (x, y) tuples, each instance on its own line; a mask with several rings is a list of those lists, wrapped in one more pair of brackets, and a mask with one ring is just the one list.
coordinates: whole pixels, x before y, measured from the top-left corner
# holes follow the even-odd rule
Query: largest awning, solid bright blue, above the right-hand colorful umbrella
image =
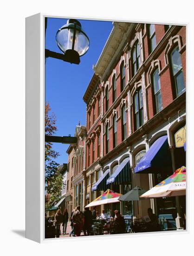
[(171, 169), (171, 155), (167, 135), (157, 139), (135, 167), (135, 173), (163, 173)]

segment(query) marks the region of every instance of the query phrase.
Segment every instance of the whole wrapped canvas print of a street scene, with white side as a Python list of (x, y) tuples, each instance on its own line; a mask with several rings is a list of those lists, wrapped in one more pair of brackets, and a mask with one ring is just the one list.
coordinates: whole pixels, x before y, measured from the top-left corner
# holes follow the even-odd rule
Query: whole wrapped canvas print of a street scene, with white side
[(186, 233), (186, 29), (26, 18), (27, 238)]

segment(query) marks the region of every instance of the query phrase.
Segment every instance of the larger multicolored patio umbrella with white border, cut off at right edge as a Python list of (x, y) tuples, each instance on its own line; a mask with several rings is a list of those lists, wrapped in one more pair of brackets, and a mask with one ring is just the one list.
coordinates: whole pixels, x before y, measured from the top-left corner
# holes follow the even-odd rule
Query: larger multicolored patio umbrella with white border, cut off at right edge
[(174, 174), (169, 176), (164, 181), (160, 182), (154, 188), (148, 190), (140, 197), (155, 198), (155, 197), (167, 197), (186, 195), (186, 168), (175, 170)]

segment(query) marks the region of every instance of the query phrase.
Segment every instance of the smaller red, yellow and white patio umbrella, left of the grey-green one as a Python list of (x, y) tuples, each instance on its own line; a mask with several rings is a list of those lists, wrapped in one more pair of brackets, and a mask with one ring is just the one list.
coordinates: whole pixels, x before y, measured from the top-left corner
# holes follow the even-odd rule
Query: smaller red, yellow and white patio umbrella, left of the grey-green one
[(97, 206), (101, 204), (120, 202), (118, 201), (119, 196), (122, 194), (116, 193), (110, 189), (107, 189), (102, 195), (98, 196), (94, 201), (86, 205), (86, 207)]

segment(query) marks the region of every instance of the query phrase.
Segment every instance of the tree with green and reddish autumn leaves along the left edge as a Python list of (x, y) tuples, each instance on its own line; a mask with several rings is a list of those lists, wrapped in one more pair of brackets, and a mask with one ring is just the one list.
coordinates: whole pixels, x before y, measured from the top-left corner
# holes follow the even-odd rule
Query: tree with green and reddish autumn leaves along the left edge
[[(45, 103), (45, 135), (53, 135), (57, 131), (56, 116), (50, 114), (51, 108)], [(49, 200), (45, 202), (45, 211), (50, 209), (52, 202), (58, 202), (61, 195), (62, 175), (58, 172), (59, 164), (55, 162), (59, 153), (52, 148), (51, 142), (45, 142), (45, 190)]]

